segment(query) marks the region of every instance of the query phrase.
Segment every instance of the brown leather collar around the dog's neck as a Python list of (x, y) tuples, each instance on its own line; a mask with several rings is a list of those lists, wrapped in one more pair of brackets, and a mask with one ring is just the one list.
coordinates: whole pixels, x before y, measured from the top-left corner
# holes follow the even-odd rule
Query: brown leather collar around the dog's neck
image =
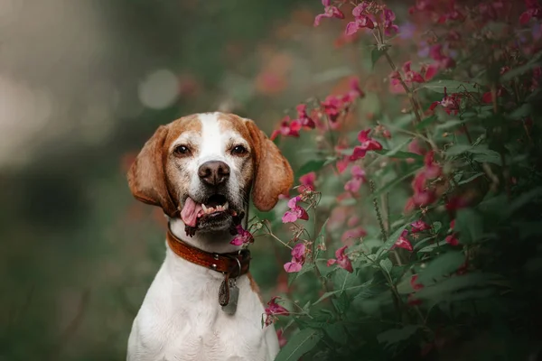
[(227, 254), (205, 252), (174, 236), (169, 229), (169, 225), (166, 239), (175, 255), (192, 262), (192, 264), (199, 264), (210, 270), (227, 274), (228, 277), (233, 278), (248, 273), (248, 267), (250, 265), (250, 251), (248, 251), (248, 249), (241, 249), (239, 252), (230, 252)]

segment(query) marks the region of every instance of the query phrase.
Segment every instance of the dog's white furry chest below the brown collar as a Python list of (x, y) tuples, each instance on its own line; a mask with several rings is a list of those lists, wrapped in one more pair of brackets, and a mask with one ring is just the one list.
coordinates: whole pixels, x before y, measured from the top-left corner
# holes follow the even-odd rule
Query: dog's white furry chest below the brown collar
[(262, 329), (264, 307), (247, 276), (238, 279), (238, 309), (230, 316), (219, 305), (220, 279), (210, 277), (213, 271), (168, 263), (170, 256), (168, 250), (134, 321), (128, 361), (263, 361), (276, 356), (275, 329)]

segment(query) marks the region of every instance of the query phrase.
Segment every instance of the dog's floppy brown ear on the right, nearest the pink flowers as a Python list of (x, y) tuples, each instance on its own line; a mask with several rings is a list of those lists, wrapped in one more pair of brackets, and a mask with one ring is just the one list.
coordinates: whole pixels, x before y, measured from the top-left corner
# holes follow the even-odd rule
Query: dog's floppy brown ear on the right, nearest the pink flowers
[(253, 121), (247, 120), (246, 125), (255, 154), (252, 200), (256, 208), (267, 211), (275, 207), (278, 196), (292, 188), (294, 172), (275, 143)]

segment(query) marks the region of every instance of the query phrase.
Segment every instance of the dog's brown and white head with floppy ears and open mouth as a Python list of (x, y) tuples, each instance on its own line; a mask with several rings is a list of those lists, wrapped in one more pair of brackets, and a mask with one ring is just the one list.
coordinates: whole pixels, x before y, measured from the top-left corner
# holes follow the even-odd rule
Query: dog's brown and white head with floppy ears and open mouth
[(222, 113), (160, 126), (128, 171), (136, 199), (201, 231), (231, 227), (248, 206), (275, 207), (291, 187), (290, 164), (251, 120)]

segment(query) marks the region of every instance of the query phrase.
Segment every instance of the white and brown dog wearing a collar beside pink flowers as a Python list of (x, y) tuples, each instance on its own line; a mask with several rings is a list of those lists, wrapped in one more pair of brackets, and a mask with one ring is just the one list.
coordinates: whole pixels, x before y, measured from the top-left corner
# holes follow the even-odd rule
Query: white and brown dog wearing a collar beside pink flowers
[(248, 201), (267, 211), (293, 185), (292, 168), (257, 125), (232, 114), (161, 125), (128, 171), (135, 199), (168, 218), (162, 264), (137, 312), (128, 361), (273, 360), (273, 325), (250, 277), (250, 255), (230, 241)]

